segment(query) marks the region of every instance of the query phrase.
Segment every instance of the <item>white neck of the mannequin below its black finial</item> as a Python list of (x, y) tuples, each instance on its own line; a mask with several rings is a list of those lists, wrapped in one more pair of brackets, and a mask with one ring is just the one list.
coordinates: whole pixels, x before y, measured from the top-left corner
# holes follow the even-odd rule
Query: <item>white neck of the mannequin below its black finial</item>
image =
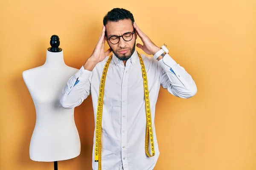
[(63, 58), (63, 51), (60, 52), (50, 52), (47, 50), (46, 52), (46, 61), (44, 63), (45, 66), (64, 66), (66, 65)]

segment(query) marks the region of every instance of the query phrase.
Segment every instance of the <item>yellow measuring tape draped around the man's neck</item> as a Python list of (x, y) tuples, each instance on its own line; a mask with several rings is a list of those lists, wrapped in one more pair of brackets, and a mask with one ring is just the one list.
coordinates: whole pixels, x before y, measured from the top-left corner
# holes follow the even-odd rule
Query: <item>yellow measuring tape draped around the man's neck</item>
[[(153, 129), (152, 129), (152, 119), (151, 119), (151, 111), (150, 111), (150, 103), (149, 103), (149, 93), (148, 93), (148, 80), (147, 74), (145, 70), (145, 66), (143, 63), (143, 59), (141, 58), (140, 54), (138, 53), (140, 58), (140, 65), (142, 70), (143, 76), (143, 85), (144, 85), (144, 95), (145, 95), (145, 109), (146, 109), (146, 137), (145, 137), (145, 152), (148, 157), (154, 156), (154, 139), (153, 139)], [(102, 108), (103, 108), (103, 96), (104, 96), (104, 87), (105, 87), (105, 79), (107, 76), (108, 66), (112, 59), (112, 55), (108, 58), (105, 67), (102, 72), (102, 78), (99, 86), (99, 98), (98, 98), (98, 107), (97, 107), (97, 116), (96, 116), (96, 144), (95, 144), (95, 161), (99, 162), (98, 170), (101, 170), (101, 127), (102, 127)], [(151, 144), (151, 151), (152, 155), (148, 152), (148, 137), (150, 138)]]

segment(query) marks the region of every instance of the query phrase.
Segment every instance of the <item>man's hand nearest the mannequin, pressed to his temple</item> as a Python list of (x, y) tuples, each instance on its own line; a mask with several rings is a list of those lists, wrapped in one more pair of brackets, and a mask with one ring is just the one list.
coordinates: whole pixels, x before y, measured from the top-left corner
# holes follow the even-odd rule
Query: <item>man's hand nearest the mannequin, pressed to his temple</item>
[(108, 56), (108, 54), (111, 53), (111, 48), (109, 48), (107, 51), (104, 51), (106, 39), (105, 30), (106, 27), (102, 26), (102, 34), (99, 37), (99, 40), (93, 50), (92, 55), (85, 62), (84, 69), (92, 71), (98, 62), (103, 61)]

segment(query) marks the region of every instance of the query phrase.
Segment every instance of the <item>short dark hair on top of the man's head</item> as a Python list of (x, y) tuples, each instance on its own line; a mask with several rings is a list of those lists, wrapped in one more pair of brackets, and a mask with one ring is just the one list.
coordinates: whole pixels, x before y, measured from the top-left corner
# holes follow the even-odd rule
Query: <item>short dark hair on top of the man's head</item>
[(125, 20), (125, 19), (130, 19), (132, 23), (134, 23), (134, 17), (130, 11), (123, 8), (113, 8), (103, 18), (103, 24), (104, 26), (106, 26), (108, 21), (117, 22), (119, 20)]

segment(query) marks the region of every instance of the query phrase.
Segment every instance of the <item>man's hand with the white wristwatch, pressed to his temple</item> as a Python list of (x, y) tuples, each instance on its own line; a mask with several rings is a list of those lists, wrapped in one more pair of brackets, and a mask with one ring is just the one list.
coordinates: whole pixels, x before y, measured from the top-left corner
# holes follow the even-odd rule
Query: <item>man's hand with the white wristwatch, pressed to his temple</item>
[(137, 24), (134, 22), (134, 28), (139, 35), (140, 39), (143, 42), (143, 45), (140, 43), (137, 43), (137, 47), (141, 48), (146, 54), (154, 55), (159, 51), (161, 48), (157, 47), (154, 42), (152, 42), (147, 35), (145, 35), (140, 28), (137, 26)]

